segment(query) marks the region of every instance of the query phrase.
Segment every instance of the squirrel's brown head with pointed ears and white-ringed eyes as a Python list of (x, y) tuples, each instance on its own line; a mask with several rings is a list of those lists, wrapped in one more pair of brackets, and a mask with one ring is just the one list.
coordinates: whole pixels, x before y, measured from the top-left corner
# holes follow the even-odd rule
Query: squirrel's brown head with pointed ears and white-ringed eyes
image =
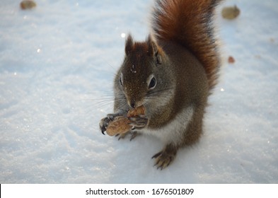
[(124, 93), (129, 107), (144, 105), (161, 83), (159, 74), (164, 53), (149, 36), (146, 42), (134, 42), (132, 36), (125, 43), (124, 62), (115, 83)]

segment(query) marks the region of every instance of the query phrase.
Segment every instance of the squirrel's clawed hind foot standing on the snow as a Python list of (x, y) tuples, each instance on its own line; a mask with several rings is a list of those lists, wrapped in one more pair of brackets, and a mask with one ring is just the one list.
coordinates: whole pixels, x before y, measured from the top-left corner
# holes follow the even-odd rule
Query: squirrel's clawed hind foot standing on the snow
[(175, 158), (178, 147), (173, 144), (167, 144), (162, 151), (156, 153), (152, 158), (156, 158), (157, 168), (166, 168)]

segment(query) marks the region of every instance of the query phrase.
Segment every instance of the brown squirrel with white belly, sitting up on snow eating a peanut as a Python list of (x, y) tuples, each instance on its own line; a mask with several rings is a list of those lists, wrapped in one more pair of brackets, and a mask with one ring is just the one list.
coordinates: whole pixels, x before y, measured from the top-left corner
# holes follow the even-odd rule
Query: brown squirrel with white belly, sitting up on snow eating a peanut
[(153, 156), (161, 170), (202, 135), (207, 98), (219, 76), (212, 23), (220, 1), (156, 0), (146, 41), (127, 36), (114, 80), (114, 113), (100, 120), (100, 129), (104, 134), (115, 117), (144, 105), (146, 115), (129, 118), (132, 139), (137, 132), (161, 139), (165, 146)]

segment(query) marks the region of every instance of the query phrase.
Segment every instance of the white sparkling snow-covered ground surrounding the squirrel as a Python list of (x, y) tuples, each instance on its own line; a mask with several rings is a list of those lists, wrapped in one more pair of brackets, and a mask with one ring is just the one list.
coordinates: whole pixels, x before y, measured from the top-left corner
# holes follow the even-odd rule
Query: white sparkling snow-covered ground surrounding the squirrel
[[(162, 171), (151, 159), (158, 139), (118, 141), (98, 129), (112, 112), (124, 34), (145, 39), (152, 1), (36, 2), (0, 5), (1, 183), (278, 182), (277, 0), (219, 7), (223, 66), (204, 135)], [(234, 4), (241, 15), (221, 18)]]

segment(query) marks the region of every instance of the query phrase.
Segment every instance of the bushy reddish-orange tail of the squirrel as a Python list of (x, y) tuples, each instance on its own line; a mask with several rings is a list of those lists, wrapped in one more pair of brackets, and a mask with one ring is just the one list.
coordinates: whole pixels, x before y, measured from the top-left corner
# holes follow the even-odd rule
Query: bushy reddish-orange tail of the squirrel
[(216, 84), (219, 55), (212, 18), (221, 0), (157, 0), (152, 28), (157, 40), (178, 42), (204, 66), (209, 87)]

